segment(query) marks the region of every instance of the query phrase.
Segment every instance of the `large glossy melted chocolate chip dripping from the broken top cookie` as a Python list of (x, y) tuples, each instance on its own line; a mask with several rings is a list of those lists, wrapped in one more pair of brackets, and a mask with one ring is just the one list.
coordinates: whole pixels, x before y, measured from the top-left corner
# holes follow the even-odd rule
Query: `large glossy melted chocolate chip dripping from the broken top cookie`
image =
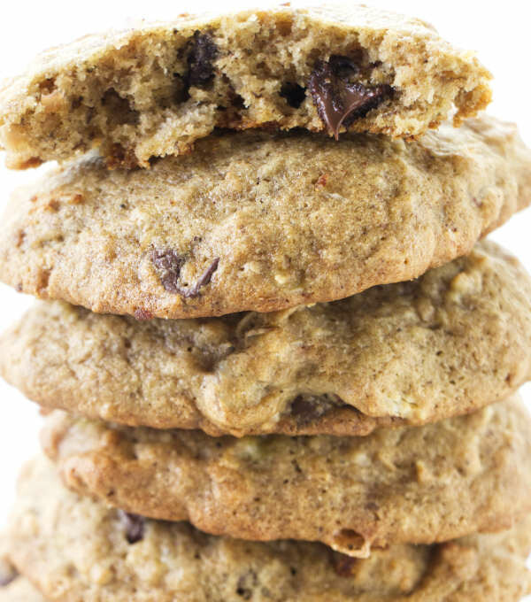
[(354, 120), (365, 117), (392, 93), (387, 85), (368, 88), (356, 81), (358, 76), (358, 66), (341, 56), (332, 56), (327, 62), (319, 60), (310, 75), (313, 102), (336, 140), (342, 126), (348, 127)]

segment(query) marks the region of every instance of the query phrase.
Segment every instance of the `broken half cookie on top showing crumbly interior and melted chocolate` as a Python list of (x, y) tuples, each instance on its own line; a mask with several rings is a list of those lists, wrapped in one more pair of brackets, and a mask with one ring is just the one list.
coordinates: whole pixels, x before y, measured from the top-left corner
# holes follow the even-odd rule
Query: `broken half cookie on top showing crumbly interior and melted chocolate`
[(94, 146), (149, 166), (214, 127), (411, 137), (475, 115), (489, 79), (433, 27), (366, 6), (183, 15), (44, 52), (0, 89), (0, 143), (24, 168)]

